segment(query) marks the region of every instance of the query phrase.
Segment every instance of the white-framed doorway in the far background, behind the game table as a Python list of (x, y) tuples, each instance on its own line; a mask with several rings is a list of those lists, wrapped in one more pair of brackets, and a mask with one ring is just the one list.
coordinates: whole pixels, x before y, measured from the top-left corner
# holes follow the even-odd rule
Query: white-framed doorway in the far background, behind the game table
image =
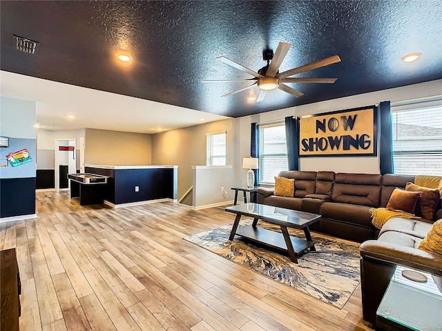
[(77, 172), (75, 139), (55, 139), (55, 190), (68, 190), (67, 174)]

